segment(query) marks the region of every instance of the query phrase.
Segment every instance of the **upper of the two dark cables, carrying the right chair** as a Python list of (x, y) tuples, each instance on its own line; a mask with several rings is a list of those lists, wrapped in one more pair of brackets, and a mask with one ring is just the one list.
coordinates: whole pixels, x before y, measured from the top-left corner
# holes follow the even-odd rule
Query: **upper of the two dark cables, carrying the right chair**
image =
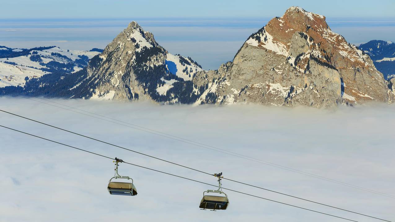
[[(112, 143), (108, 143), (108, 142), (102, 141), (102, 140), (100, 140), (100, 139), (95, 139), (95, 138), (92, 138), (92, 137), (89, 137), (89, 136), (86, 136), (86, 135), (78, 134), (78, 133), (75, 133), (75, 132), (72, 132), (72, 131), (69, 131), (69, 130), (65, 130), (65, 129), (62, 129), (62, 128), (59, 128), (59, 127), (50, 125), (50, 124), (46, 124), (46, 123), (44, 123), (44, 122), (40, 122), (40, 121), (33, 120), (33, 119), (30, 119), (30, 118), (27, 118), (27, 117), (23, 117), (23, 116), (21, 116), (21, 115), (17, 115), (17, 114), (14, 114), (14, 113), (10, 113), (10, 112), (4, 111), (4, 110), (2, 110), (2, 109), (0, 109), (0, 111), (2, 111), (2, 112), (4, 112), (4, 113), (11, 114), (11, 115), (14, 115), (14, 116), (17, 116), (17, 117), (21, 117), (21, 118), (23, 118), (23, 119), (31, 120), (31, 121), (33, 121), (33, 122), (37, 122), (37, 123), (40, 123), (40, 124), (43, 124), (43, 125), (46, 125), (46, 126), (50, 126), (50, 127), (56, 128), (56, 129), (58, 129), (58, 130), (63, 130), (63, 131), (65, 131), (65, 132), (69, 132), (69, 133), (71, 133), (71, 134), (79, 135), (79, 136), (82, 136), (82, 137), (85, 137), (85, 138), (88, 138), (88, 139), (92, 139), (92, 140), (94, 140), (94, 141), (98, 141), (98, 142), (101, 142), (101, 143), (105, 143), (105, 144), (107, 144), (107, 145), (111, 145), (111, 146), (114, 146), (114, 147), (118, 147), (118, 148), (121, 148), (121, 149), (124, 149), (124, 150), (127, 150), (127, 151), (135, 152), (135, 153), (138, 153), (138, 154), (141, 154), (141, 155), (144, 155), (144, 156), (148, 156), (148, 157), (151, 157), (151, 158), (155, 158), (155, 159), (157, 159), (157, 160), (161, 160), (161, 161), (164, 161), (164, 162), (167, 162), (167, 163), (170, 163), (170, 164), (174, 164), (174, 165), (177, 165), (177, 166), (185, 167), (185, 168), (187, 168), (187, 169), (191, 169), (191, 170), (194, 170), (194, 171), (198, 171), (198, 172), (200, 172), (200, 173), (205, 173), (205, 174), (207, 174), (207, 175), (213, 176), (213, 174), (211, 174), (211, 173), (207, 173), (207, 172), (204, 172), (204, 171), (201, 171), (201, 170), (198, 170), (198, 169), (194, 169), (194, 168), (187, 167), (187, 166), (184, 166), (184, 165), (181, 165), (181, 164), (177, 164), (177, 163), (175, 163), (175, 162), (167, 161), (167, 160), (164, 160), (164, 159), (155, 157), (155, 156), (151, 156), (151, 155), (148, 155), (148, 154), (144, 154), (144, 153), (142, 153), (142, 152), (137, 152), (137, 151), (134, 151), (134, 150), (131, 150), (131, 149), (127, 149), (127, 148), (124, 148), (124, 147), (120, 147), (120, 146), (118, 146), (118, 145), (115, 145), (115, 144), (112, 144)], [(316, 202), (316, 201), (312, 201), (312, 200), (308, 200), (308, 199), (304, 199), (304, 198), (299, 198), (299, 197), (296, 197), (296, 196), (292, 196), (292, 195), (289, 195), (289, 194), (284, 194), (284, 193), (277, 192), (277, 191), (274, 191), (274, 190), (269, 190), (269, 189), (262, 188), (262, 187), (259, 187), (259, 186), (254, 186), (254, 185), (247, 184), (247, 183), (244, 183), (244, 182), (235, 181), (235, 180), (228, 179), (228, 178), (225, 178), (225, 177), (224, 177), (223, 179), (226, 179), (226, 180), (228, 180), (228, 181), (237, 182), (237, 183), (240, 183), (240, 184), (244, 184), (244, 185), (247, 185), (247, 186), (252, 186), (252, 187), (255, 187), (255, 188), (260, 188), (260, 189), (262, 189), (262, 190), (267, 190), (267, 191), (274, 192), (274, 193), (277, 193), (277, 194), (282, 194), (282, 195), (289, 196), (289, 197), (292, 197), (292, 198), (297, 198), (297, 199), (301, 199), (301, 200), (304, 200), (304, 201), (309, 201), (309, 202), (311, 202), (311, 203), (317, 203), (317, 204), (320, 204), (320, 205), (323, 205), (323, 206), (332, 207), (332, 208), (339, 209), (339, 210), (342, 210), (342, 211), (347, 211), (347, 212), (350, 212), (350, 213), (355, 213), (355, 214), (359, 214), (359, 215), (371, 217), (371, 218), (378, 219), (378, 220), (384, 220), (384, 219), (377, 218), (377, 217), (374, 217), (374, 216), (369, 216), (369, 215), (366, 215), (366, 214), (361, 214), (361, 213), (357, 213), (357, 212), (354, 212), (354, 211), (349, 211), (349, 210), (342, 209), (342, 208), (339, 208), (339, 207), (333, 207), (333, 206), (331, 206), (331, 205), (327, 205), (327, 204), (324, 204), (324, 203), (319, 203), (319, 202)], [(390, 222), (389, 220), (384, 220), (384, 221)]]

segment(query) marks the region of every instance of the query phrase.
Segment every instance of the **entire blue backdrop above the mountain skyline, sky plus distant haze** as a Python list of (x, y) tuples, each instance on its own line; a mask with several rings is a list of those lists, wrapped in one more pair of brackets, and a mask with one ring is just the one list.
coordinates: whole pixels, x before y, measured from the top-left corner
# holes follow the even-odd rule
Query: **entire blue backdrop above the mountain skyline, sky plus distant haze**
[(190, 56), (204, 69), (233, 60), (250, 34), (290, 6), (326, 16), (334, 32), (355, 45), (395, 41), (395, 2), (374, 1), (4, 1), (0, 45), (63, 49), (104, 48), (137, 21), (172, 54)]

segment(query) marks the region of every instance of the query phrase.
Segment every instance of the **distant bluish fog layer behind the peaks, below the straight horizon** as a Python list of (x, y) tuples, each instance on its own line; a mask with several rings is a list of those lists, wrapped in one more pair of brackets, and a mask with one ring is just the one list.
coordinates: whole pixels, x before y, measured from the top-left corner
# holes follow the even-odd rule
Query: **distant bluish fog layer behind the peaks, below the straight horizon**
[[(0, 45), (31, 48), (56, 45), (70, 50), (104, 48), (131, 21), (152, 32), (170, 53), (191, 56), (204, 69), (233, 60), (244, 41), (271, 18), (250, 19), (0, 19)], [(395, 41), (395, 19), (327, 18), (334, 32), (359, 45)]]

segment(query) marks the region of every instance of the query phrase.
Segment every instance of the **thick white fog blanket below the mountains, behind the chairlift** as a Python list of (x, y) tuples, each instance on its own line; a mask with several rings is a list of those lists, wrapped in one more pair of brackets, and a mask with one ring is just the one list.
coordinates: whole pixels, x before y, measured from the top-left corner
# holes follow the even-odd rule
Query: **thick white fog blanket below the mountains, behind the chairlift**
[[(337, 109), (193, 107), (3, 97), (0, 109), (201, 171), (223, 172), (229, 179), (395, 219), (394, 199), (384, 195), (395, 196), (394, 105)], [(4, 112), (0, 112), (0, 125), (140, 166), (217, 183), (212, 176)], [(342, 221), (231, 191), (225, 191), (230, 201), (226, 211), (202, 211), (198, 206), (203, 191), (214, 187), (127, 164), (120, 164), (119, 173), (134, 179), (138, 195), (109, 195), (107, 182), (114, 174), (111, 160), (2, 127), (0, 154), (2, 222)], [(231, 181), (224, 180), (223, 187), (357, 221), (376, 221)]]

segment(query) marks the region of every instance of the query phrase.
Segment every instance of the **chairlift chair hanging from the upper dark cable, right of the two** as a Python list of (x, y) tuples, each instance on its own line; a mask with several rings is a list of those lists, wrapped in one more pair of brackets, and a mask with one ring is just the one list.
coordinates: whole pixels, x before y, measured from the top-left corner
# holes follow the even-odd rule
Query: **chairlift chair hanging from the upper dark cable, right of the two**
[[(207, 190), (203, 192), (203, 198), (200, 201), (199, 208), (201, 210), (210, 209), (212, 211), (215, 210), (226, 210), (229, 206), (229, 199), (228, 195), (222, 192), (221, 188), (221, 178), (222, 173), (214, 174), (215, 177), (218, 178), (218, 190)], [(218, 194), (225, 194), (225, 196), (213, 196), (213, 195), (204, 195), (205, 193), (218, 193)]]

